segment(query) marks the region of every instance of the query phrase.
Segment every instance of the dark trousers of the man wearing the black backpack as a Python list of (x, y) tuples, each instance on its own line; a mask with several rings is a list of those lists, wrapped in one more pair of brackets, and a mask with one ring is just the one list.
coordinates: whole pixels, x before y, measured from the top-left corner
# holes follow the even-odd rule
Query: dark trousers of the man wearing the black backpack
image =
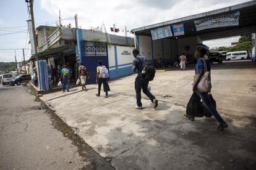
[(143, 91), (143, 93), (147, 95), (151, 102), (153, 102), (153, 100), (156, 99), (155, 96), (153, 96), (151, 92), (148, 91), (148, 83), (149, 81), (139, 77), (135, 79), (135, 91), (138, 106), (142, 106), (142, 95), (140, 94), (141, 91)]

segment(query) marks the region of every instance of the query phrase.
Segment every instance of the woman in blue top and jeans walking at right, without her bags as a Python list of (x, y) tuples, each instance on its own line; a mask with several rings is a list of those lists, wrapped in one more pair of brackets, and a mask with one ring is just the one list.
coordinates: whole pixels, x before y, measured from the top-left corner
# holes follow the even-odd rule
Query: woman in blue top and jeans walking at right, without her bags
[(195, 75), (198, 75), (195, 79), (195, 83), (193, 85), (193, 92), (197, 92), (200, 98), (203, 100), (203, 105), (208, 109), (208, 111), (213, 115), (220, 123), (217, 127), (218, 130), (222, 131), (224, 128), (228, 127), (228, 124), (221, 118), (220, 114), (213, 107), (213, 104), (210, 101), (210, 97), (208, 92), (198, 92), (197, 86), (200, 82), (202, 76), (205, 74), (205, 66), (207, 67), (207, 71), (211, 71), (211, 65), (209, 60), (203, 59), (203, 56), (207, 54), (207, 49), (204, 47), (198, 47), (197, 51), (195, 51), (195, 57), (197, 58), (197, 65), (195, 65)]

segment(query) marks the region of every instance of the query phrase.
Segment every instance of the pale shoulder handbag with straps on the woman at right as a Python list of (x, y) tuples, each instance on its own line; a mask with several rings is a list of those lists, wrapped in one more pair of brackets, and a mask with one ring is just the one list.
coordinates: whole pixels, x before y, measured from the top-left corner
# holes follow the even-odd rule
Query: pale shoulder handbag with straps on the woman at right
[[(210, 92), (211, 91), (211, 72), (207, 70), (205, 59), (203, 59), (203, 65), (204, 65), (205, 73), (203, 74), (202, 78), (197, 84), (197, 91)], [(197, 74), (198, 74), (198, 66), (197, 66)], [(195, 78), (198, 78), (198, 75), (194, 76), (194, 81), (196, 80)]]

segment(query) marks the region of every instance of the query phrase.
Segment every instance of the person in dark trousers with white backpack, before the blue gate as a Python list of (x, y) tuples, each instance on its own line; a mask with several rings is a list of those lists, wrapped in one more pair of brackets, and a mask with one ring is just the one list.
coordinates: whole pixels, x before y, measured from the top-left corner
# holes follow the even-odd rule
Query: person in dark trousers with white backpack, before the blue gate
[(95, 95), (100, 97), (101, 84), (103, 83), (103, 89), (106, 93), (105, 98), (108, 98), (108, 91), (110, 91), (109, 85), (107, 82), (109, 78), (108, 68), (102, 65), (102, 62), (100, 60), (98, 61), (98, 67), (96, 68), (96, 70), (97, 70), (96, 82), (98, 82), (98, 94), (95, 94)]

